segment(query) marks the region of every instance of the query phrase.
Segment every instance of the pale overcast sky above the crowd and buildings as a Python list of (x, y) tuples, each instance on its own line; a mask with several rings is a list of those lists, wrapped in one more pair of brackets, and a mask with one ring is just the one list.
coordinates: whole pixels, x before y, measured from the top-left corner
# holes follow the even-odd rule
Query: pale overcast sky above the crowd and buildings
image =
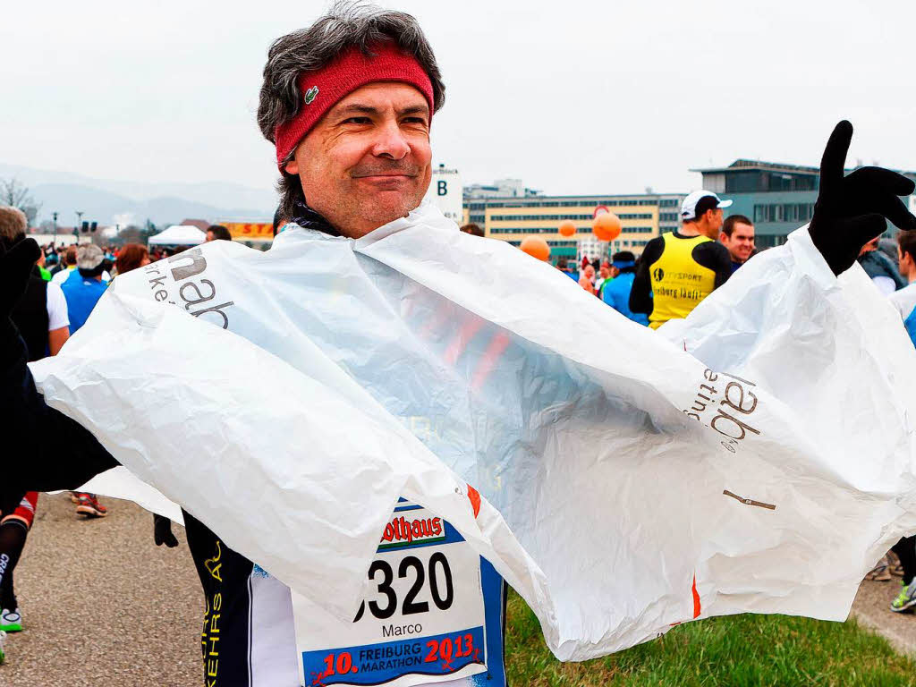
[[(403, 0), (446, 83), (433, 158), (464, 183), (682, 191), (738, 157), (916, 169), (916, 2)], [(256, 124), (273, 38), (329, 5), (5, 2), (0, 162), (105, 179), (272, 184)]]

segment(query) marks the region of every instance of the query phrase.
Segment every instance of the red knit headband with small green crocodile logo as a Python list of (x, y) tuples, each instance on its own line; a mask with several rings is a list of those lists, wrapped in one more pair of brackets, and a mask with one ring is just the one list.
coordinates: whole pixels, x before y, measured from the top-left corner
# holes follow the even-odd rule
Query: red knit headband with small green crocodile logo
[(389, 42), (373, 46), (372, 52), (375, 57), (367, 58), (362, 50), (349, 49), (320, 70), (300, 73), (297, 80), (302, 98), (299, 114), (286, 124), (278, 125), (274, 131), (277, 164), (281, 170), (283, 161), (299, 145), (302, 137), (311, 131), (311, 127), (345, 95), (366, 83), (409, 83), (426, 97), (432, 116), (432, 82), (429, 74), (420, 67), (420, 62)]

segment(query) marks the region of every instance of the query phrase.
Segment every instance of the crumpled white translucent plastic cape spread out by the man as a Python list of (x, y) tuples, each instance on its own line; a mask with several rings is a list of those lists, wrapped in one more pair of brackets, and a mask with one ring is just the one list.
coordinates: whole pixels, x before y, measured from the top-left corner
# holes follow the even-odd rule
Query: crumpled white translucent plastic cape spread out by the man
[(156, 487), (342, 618), (404, 496), (584, 660), (694, 617), (845, 618), (916, 529), (913, 363), (804, 229), (656, 333), (423, 205), (118, 277), (32, 370), (125, 465), (94, 491), (177, 518)]

